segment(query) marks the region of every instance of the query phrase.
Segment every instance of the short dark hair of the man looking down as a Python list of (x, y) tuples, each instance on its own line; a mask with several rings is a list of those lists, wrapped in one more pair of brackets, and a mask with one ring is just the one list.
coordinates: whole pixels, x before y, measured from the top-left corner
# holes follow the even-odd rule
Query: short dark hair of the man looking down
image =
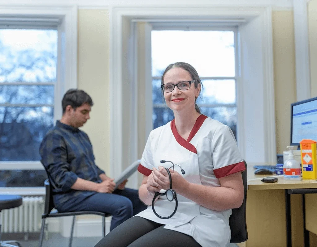
[(69, 89), (61, 102), (63, 108), (63, 114), (66, 111), (66, 107), (70, 105), (74, 110), (77, 107), (80, 107), (82, 104), (87, 103), (90, 106), (93, 106), (93, 100), (91, 97), (84, 91), (78, 89)]

